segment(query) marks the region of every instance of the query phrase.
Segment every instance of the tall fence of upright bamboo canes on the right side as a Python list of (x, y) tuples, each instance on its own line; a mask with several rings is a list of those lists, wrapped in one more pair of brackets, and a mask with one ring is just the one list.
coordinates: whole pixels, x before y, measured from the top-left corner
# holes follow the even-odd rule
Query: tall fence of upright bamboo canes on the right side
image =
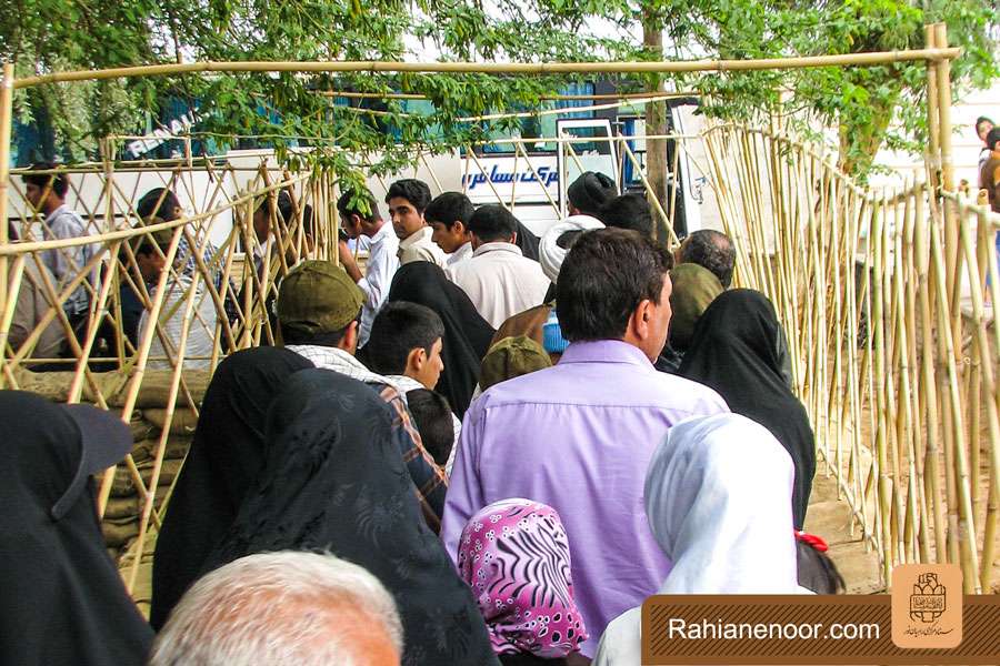
[(719, 125), (704, 140), (736, 281), (767, 293), (796, 341), (820, 457), (884, 582), (896, 564), (951, 562), (968, 593), (990, 592), (1000, 215), (923, 181), (859, 188), (780, 133)]

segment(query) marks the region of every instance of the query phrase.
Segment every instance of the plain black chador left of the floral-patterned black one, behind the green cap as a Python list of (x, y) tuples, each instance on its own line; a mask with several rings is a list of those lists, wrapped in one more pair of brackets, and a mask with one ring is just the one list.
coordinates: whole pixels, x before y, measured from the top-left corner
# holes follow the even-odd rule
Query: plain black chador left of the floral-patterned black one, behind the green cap
[(267, 453), (268, 406), (282, 382), (312, 363), (283, 347), (227, 357), (209, 384), (191, 450), (157, 537), (150, 623), (158, 630), (232, 524)]

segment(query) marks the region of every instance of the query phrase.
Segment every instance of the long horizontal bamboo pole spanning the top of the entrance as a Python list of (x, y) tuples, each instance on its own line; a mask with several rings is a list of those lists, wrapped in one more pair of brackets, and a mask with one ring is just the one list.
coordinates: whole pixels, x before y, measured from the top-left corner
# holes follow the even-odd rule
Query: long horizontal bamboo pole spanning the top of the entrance
[(137, 77), (166, 77), (200, 72), (417, 72), (417, 73), (484, 73), (484, 74), (568, 74), (568, 73), (654, 73), (654, 72), (726, 72), (768, 69), (802, 69), (811, 67), (859, 67), (954, 59), (961, 49), (917, 49), (909, 51), (877, 51), (800, 58), (764, 58), (756, 60), (687, 60), (673, 62), (186, 62), (146, 64), (104, 70), (81, 70), (27, 77), (14, 88), (70, 81), (99, 81)]

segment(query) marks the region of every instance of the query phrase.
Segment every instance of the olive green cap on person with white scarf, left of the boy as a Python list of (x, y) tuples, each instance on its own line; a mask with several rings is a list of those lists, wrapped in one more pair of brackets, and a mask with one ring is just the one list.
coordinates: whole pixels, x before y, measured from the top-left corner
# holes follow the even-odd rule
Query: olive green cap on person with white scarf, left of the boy
[(329, 261), (304, 261), (289, 271), (278, 289), (278, 321), (309, 335), (340, 331), (358, 316), (362, 292)]

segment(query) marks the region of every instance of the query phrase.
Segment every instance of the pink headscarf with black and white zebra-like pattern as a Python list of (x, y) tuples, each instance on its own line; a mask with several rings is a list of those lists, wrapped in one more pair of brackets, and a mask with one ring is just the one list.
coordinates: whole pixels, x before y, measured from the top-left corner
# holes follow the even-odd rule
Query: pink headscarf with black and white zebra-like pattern
[(587, 639), (566, 528), (551, 506), (520, 498), (490, 504), (462, 531), (458, 566), (497, 654), (558, 658)]

